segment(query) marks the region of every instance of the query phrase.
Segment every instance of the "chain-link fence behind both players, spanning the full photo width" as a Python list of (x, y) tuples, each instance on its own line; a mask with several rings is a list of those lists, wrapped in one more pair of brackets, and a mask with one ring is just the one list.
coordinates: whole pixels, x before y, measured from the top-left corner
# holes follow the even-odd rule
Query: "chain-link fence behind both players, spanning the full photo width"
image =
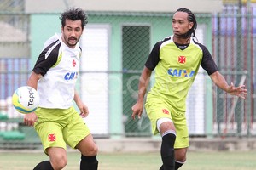
[[(26, 84), (43, 40), (52, 30), (58, 30), (61, 22), (49, 20), (58, 20), (59, 14), (25, 14), (22, 0), (2, 0), (0, 8), (0, 29), (3, 29), (0, 31), (3, 117), (0, 131), (6, 132), (22, 125), (20, 119), (12, 119), (22, 116), (9, 109), (9, 97), (15, 88)], [(195, 14), (197, 39), (212, 52), (227, 82), (236, 86), (246, 84), (248, 96), (243, 100), (224, 93), (200, 70), (187, 101), (190, 135), (256, 134), (255, 13), (253, 3), (232, 3), (225, 5), (222, 13)], [(89, 24), (81, 38), (84, 54), (78, 88), (90, 107), (87, 122), (92, 133), (99, 137), (151, 136), (147, 114), (144, 111), (142, 119), (134, 121), (131, 106), (136, 103), (138, 80), (151, 48), (155, 42), (172, 35), (172, 14), (91, 11), (88, 14)], [(152, 85), (154, 79), (151, 82)], [(15, 122), (15, 126), (9, 126), (9, 122)]]

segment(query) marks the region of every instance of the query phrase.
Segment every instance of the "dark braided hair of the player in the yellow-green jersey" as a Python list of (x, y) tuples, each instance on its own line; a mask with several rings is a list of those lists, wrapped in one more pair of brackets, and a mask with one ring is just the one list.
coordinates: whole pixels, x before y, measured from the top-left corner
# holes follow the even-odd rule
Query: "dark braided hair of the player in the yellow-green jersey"
[(185, 34), (185, 37), (195, 37), (195, 30), (197, 28), (197, 22), (195, 20), (195, 14), (193, 14), (188, 8), (179, 8), (176, 12), (184, 12), (188, 14), (189, 22), (193, 22), (193, 26), (189, 31)]

